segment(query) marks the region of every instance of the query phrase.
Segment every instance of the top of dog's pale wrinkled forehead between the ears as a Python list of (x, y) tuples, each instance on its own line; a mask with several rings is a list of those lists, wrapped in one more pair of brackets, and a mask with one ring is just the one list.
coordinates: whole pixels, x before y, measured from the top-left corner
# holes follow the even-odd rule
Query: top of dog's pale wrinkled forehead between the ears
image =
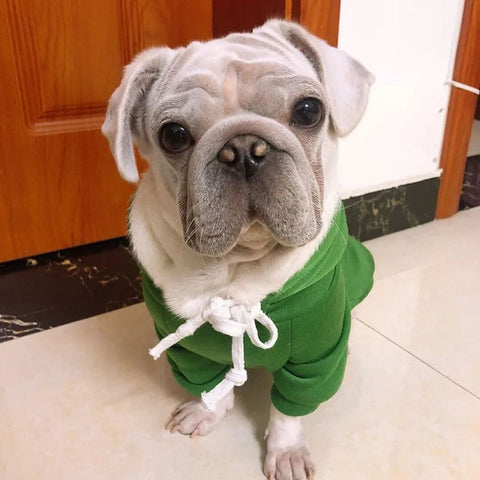
[(283, 39), (261, 33), (194, 42), (179, 54), (170, 74), (177, 92), (202, 85), (213, 96), (224, 96), (225, 82), (248, 85), (265, 77), (319, 82), (312, 65), (298, 50)]

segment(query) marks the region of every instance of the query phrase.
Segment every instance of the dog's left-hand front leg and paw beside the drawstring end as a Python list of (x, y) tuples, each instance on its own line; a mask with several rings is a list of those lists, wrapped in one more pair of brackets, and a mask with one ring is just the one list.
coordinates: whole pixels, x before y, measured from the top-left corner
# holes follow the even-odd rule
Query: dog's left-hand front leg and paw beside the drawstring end
[(172, 413), (167, 430), (190, 435), (192, 438), (203, 437), (208, 435), (232, 408), (233, 391), (218, 403), (214, 412), (208, 410), (201, 400), (183, 403)]

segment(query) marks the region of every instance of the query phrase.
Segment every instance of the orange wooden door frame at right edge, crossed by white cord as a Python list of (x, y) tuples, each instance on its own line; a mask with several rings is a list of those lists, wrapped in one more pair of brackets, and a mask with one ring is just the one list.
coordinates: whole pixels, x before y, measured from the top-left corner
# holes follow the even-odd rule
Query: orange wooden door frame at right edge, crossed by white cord
[[(453, 79), (480, 87), (480, 0), (465, 0)], [(448, 105), (440, 166), (443, 173), (437, 204), (437, 218), (458, 211), (468, 143), (478, 96), (452, 87)]]

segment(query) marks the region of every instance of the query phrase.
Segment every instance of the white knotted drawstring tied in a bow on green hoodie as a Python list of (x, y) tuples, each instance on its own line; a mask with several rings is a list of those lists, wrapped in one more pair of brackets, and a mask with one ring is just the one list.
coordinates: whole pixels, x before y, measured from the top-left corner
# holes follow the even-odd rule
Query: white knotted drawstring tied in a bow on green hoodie
[[(262, 324), (269, 332), (270, 338), (262, 342), (258, 337), (255, 321)], [(210, 392), (202, 393), (202, 401), (209, 410), (215, 410), (218, 402), (225, 397), (233, 387), (240, 387), (247, 381), (245, 370), (243, 336), (248, 338), (256, 347), (264, 350), (273, 347), (278, 338), (278, 330), (273, 321), (262, 312), (260, 302), (246, 307), (233, 300), (221, 297), (211, 299), (202, 314), (187, 320), (174, 333), (162, 339), (158, 345), (150, 349), (150, 355), (156, 360), (160, 355), (180, 340), (193, 335), (204, 323), (210, 323), (214, 330), (232, 337), (233, 367), (225, 378)]]

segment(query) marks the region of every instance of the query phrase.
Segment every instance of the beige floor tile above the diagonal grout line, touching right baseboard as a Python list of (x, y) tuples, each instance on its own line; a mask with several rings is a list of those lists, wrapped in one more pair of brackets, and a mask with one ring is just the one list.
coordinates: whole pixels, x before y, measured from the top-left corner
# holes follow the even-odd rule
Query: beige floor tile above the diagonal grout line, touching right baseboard
[(480, 397), (480, 208), (367, 242), (378, 274), (356, 315)]

